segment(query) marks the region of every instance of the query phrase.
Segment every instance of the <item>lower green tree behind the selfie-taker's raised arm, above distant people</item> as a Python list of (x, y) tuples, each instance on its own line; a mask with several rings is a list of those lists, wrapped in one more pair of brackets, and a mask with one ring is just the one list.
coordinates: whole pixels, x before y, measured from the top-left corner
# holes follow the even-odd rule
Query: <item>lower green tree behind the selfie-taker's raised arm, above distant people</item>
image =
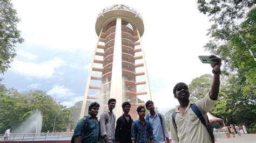
[[(255, 106), (255, 90), (248, 91), (243, 94), (246, 87), (245, 82), (238, 75), (231, 75), (227, 84), (221, 88), (221, 98), (212, 109), (212, 114), (226, 120), (226, 124), (247, 124), (248, 127), (255, 123), (256, 106)], [(255, 115), (255, 116), (253, 116)], [(244, 118), (241, 118), (244, 117)]]

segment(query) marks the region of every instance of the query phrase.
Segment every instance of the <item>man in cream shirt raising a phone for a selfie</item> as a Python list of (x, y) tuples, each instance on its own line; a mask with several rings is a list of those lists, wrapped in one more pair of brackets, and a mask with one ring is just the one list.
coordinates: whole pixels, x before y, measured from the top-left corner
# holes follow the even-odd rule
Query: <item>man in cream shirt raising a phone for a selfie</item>
[[(209, 56), (211, 61), (217, 62), (212, 66), (213, 82), (211, 91), (204, 98), (199, 99), (194, 104), (198, 107), (201, 115), (207, 121), (207, 112), (214, 106), (218, 99), (220, 86), (220, 66), (221, 60), (215, 55)], [(179, 106), (174, 111), (176, 117), (171, 121), (171, 139), (172, 143), (176, 142), (212, 142), (209, 133), (200, 119), (191, 109), (189, 100), (190, 93), (185, 83), (180, 82), (173, 88), (173, 94), (179, 101)], [(171, 115), (172, 117), (172, 115)]]

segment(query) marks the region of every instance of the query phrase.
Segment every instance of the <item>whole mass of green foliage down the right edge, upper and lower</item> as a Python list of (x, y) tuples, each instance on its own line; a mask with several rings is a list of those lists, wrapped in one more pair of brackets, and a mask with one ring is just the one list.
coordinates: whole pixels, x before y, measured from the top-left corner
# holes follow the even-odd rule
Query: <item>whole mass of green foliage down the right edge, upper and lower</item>
[[(212, 114), (226, 124), (245, 124), (253, 128), (256, 122), (256, 8), (254, 0), (204, 1), (198, 10), (212, 22), (208, 35), (212, 38), (205, 49), (220, 56), (228, 71), (226, 84), (220, 89), (220, 99)], [(253, 130), (253, 129), (252, 129)]]

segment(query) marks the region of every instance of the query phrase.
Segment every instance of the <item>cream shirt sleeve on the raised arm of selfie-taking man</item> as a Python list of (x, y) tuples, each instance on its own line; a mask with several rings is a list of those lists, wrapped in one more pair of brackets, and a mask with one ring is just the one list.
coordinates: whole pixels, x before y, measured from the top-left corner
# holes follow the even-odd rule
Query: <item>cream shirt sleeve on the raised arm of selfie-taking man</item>
[(214, 104), (217, 102), (217, 99), (215, 100), (211, 99), (210, 92), (207, 92), (204, 98), (199, 99), (198, 101), (195, 102), (195, 104), (197, 105), (201, 113), (206, 114), (210, 109), (213, 108)]

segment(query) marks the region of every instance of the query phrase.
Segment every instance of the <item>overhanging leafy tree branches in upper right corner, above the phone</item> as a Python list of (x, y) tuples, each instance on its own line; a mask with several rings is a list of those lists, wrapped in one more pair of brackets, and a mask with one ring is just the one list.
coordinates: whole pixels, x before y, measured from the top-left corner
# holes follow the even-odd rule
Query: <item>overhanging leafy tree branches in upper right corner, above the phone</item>
[(198, 1), (198, 10), (214, 22), (208, 30), (212, 40), (205, 48), (224, 60), (224, 68), (256, 84), (256, 1)]

